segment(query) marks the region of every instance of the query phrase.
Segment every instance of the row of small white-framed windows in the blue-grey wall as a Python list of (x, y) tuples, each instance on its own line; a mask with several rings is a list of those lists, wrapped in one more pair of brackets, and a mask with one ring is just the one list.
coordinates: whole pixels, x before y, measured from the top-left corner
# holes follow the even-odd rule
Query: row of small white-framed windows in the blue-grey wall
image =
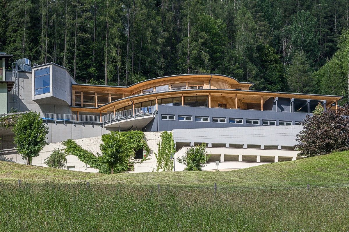
[[(170, 114), (162, 114), (161, 119), (163, 120), (175, 120), (174, 115)], [(193, 121), (192, 116), (186, 116), (186, 115), (178, 115), (178, 121)], [(209, 117), (203, 117), (203, 116), (195, 116), (196, 122), (209, 122)], [(220, 122), (220, 123), (226, 123), (226, 118), (218, 118), (218, 117), (212, 117), (212, 122)], [(229, 118), (229, 123), (238, 123), (242, 124), (243, 119), (237, 119), (237, 118)], [(246, 124), (251, 125), (259, 125), (259, 119), (246, 119)], [(276, 121), (275, 120), (262, 120), (262, 125), (265, 126), (275, 126)], [(280, 126), (291, 126), (292, 121), (279, 121)], [(295, 122), (295, 125), (300, 125), (300, 122)]]

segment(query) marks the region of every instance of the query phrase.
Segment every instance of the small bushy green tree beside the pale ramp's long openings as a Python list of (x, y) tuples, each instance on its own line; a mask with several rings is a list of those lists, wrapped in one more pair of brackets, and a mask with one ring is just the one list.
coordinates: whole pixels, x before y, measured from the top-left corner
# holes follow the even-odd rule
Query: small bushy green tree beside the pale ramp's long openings
[(186, 165), (185, 171), (202, 171), (202, 167), (206, 165), (210, 157), (211, 154), (206, 152), (206, 143), (202, 143), (200, 146), (188, 149), (183, 157), (177, 158), (177, 161)]

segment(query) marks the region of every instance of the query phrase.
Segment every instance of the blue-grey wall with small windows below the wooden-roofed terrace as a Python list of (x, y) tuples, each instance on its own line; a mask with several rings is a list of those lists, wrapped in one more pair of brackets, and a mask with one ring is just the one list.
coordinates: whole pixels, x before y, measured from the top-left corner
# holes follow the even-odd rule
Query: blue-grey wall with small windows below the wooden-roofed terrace
[[(175, 115), (175, 120), (162, 120), (162, 114)], [(193, 120), (178, 121), (178, 115), (189, 115), (193, 117)], [(170, 131), (172, 129), (195, 128), (260, 127), (263, 126), (263, 119), (276, 120), (276, 125), (279, 125), (279, 121), (292, 121), (292, 125), (295, 125), (295, 122), (303, 121), (306, 115), (307, 114), (305, 113), (159, 105), (158, 114), (154, 121), (151, 121), (146, 126), (146, 131)], [(196, 122), (195, 116), (210, 117), (210, 120), (209, 122)], [(212, 117), (225, 118), (226, 123), (213, 122)], [(229, 118), (243, 119), (243, 123), (229, 123)], [(259, 125), (248, 125), (246, 124), (246, 119), (259, 119)]]

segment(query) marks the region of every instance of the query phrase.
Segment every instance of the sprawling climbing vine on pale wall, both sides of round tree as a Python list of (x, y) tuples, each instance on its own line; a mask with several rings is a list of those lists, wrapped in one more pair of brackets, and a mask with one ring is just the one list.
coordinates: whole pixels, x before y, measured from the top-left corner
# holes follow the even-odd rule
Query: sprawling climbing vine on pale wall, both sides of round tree
[[(133, 163), (135, 151), (139, 149), (144, 150), (144, 158), (139, 162), (143, 162), (150, 155), (150, 148), (147, 144), (147, 141), (145, 140), (145, 136), (142, 131), (113, 131), (112, 133), (124, 138), (124, 141), (126, 143), (125, 146), (127, 146), (129, 150), (129, 155), (125, 157), (125, 162), (128, 162), (129, 164)], [(97, 155), (95, 155), (91, 151), (83, 149), (72, 139), (67, 139), (66, 141), (62, 142), (62, 144), (65, 146), (64, 151), (66, 154), (75, 155), (79, 160), (86, 163), (86, 165), (88, 165), (89, 167), (98, 169), (99, 173), (111, 173), (110, 166), (105, 162), (105, 159), (102, 158), (101, 154), (97, 153)]]

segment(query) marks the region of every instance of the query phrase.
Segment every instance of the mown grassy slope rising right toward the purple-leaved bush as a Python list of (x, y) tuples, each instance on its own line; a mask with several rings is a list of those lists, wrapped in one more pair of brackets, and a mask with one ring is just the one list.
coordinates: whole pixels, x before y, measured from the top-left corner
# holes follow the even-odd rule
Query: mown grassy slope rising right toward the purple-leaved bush
[(94, 181), (130, 184), (212, 186), (332, 186), (349, 184), (349, 151), (228, 172), (113, 174)]

